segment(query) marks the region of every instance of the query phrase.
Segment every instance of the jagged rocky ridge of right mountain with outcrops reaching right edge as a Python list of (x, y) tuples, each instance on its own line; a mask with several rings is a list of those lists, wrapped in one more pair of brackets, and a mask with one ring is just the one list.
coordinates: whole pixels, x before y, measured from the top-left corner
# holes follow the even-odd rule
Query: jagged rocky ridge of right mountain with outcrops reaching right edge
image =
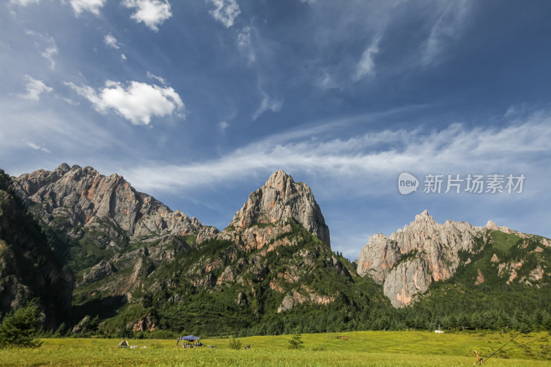
[[(496, 240), (499, 243), (495, 244)], [(428, 290), (430, 284), (450, 279), (459, 266), (470, 264), (471, 258), (478, 256), (481, 251), (492, 253), (491, 257), (488, 255), (488, 263), (507, 285), (514, 281), (530, 286), (541, 280), (541, 267), (533, 269), (530, 268), (533, 266), (530, 261), (521, 258), (514, 260), (508, 256), (502, 262), (494, 252), (503, 253), (503, 249), (508, 251), (511, 247), (534, 247), (533, 251), (541, 253), (544, 251), (542, 247), (551, 247), (551, 243), (541, 236), (534, 237), (508, 227), (499, 227), (491, 220), (486, 227), (474, 227), (466, 222), (451, 220), (439, 224), (424, 211), (415, 216), (415, 221), (388, 237), (382, 233), (372, 235), (360, 251), (357, 273), (382, 284), (384, 294), (395, 307), (415, 302)], [(529, 251), (523, 250), (523, 253), (528, 254)], [(521, 276), (519, 269), (525, 263), (530, 269), (523, 268), (526, 275)], [(473, 285), (484, 283), (484, 274), (480, 268), (477, 269), (478, 276)]]

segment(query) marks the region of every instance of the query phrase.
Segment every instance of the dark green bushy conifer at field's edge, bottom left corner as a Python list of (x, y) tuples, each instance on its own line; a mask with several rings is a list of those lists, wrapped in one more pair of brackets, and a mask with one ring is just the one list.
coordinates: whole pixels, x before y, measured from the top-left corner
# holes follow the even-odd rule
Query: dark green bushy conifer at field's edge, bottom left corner
[(37, 304), (32, 303), (11, 311), (0, 325), (0, 345), (27, 348), (41, 346), (41, 340), (37, 339), (39, 321)]

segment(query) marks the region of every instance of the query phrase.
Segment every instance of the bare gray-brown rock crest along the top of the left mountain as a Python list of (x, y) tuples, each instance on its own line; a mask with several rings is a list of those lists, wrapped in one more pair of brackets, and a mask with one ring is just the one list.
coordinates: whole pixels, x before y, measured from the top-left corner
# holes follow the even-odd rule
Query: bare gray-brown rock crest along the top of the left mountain
[[(196, 218), (171, 211), (152, 196), (136, 191), (122, 176), (103, 176), (92, 167), (39, 169), (14, 179), (13, 189), (28, 205), (40, 205), (46, 224), (107, 231), (118, 227), (129, 237), (189, 235), (203, 226)], [(107, 221), (111, 226), (105, 226)], [(120, 233), (119, 233), (120, 234)], [(116, 237), (117, 233), (110, 233)]]

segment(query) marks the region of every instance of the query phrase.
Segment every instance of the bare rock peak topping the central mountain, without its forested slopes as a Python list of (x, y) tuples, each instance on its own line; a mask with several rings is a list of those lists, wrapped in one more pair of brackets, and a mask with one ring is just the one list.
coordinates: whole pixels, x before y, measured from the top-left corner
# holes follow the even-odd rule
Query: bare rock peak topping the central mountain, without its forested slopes
[(315, 202), (312, 190), (303, 182), (295, 182), (282, 170), (275, 171), (266, 184), (249, 195), (249, 200), (236, 213), (221, 238), (241, 238), (258, 247), (289, 231), (283, 229), (294, 220), (327, 245), (329, 227)]

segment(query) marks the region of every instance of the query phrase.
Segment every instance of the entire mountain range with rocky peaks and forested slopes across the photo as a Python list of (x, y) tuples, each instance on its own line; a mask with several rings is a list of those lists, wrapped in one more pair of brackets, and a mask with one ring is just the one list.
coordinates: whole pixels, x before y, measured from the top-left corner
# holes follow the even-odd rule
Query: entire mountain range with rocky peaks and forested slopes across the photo
[[(480, 327), (551, 326), (550, 240), (493, 222), (439, 224), (424, 211), (388, 237), (373, 235), (351, 263), (331, 250), (310, 187), (283, 171), (222, 231), (92, 167), (3, 174), (3, 182), (0, 313), (37, 297), (46, 328), (253, 335), (296, 324), (428, 328), (446, 317), (477, 327), (486, 308), (470, 301), (481, 295), (495, 313)], [(537, 316), (525, 315), (534, 307)]]

